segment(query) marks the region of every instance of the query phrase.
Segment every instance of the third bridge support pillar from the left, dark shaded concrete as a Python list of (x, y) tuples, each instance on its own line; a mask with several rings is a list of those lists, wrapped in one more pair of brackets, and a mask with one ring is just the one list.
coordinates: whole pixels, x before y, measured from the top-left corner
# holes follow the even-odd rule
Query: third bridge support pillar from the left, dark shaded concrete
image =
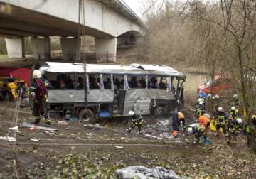
[[(81, 43), (81, 41), (79, 43)], [(78, 38), (60, 38), (60, 44), (61, 44), (63, 60), (75, 61), (75, 57), (78, 49)]]

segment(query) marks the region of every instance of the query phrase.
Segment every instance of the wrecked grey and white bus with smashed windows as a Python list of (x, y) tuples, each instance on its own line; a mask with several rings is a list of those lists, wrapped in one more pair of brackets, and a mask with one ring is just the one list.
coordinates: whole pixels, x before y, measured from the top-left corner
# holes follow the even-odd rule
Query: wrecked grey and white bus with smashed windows
[(130, 110), (159, 117), (183, 104), (186, 76), (164, 65), (48, 62), (40, 70), (50, 112), (84, 122), (129, 116)]

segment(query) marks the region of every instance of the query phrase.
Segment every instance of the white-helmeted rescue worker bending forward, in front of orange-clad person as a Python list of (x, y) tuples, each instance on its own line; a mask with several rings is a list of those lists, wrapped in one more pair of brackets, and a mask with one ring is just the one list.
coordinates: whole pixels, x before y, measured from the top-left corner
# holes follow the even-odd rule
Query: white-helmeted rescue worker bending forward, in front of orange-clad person
[(203, 137), (205, 136), (206, 127), (203, 124), (197, 124), (188, 127), (188, 134), (193, 133), (195, 136), (194, 142), (203, 143)]

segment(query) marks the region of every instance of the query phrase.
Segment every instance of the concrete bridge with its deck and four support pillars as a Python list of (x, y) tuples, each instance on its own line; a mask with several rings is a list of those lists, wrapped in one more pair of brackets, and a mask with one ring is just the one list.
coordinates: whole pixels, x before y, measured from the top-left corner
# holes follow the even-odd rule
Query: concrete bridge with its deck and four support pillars
[[(84, 0), (85, 33), (95, 37), (96, 54), (116, 60), (117, 39), (136, 41), (146, 28), (122, 0)], [(60, 36), (63, 60), (77, 51), (79, 0), (0, 0), (0, 34), (10, 58), (24, 58), (24, 37), (32, 37), (35, 59), (50, 59), (50, 36)]]

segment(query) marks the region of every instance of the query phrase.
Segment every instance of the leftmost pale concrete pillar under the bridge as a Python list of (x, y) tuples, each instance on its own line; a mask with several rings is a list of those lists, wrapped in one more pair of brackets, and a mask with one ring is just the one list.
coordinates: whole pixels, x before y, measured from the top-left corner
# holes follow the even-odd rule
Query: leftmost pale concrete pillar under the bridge
[(25, 58), (23, 38), (5, 38), (9, 58)]

